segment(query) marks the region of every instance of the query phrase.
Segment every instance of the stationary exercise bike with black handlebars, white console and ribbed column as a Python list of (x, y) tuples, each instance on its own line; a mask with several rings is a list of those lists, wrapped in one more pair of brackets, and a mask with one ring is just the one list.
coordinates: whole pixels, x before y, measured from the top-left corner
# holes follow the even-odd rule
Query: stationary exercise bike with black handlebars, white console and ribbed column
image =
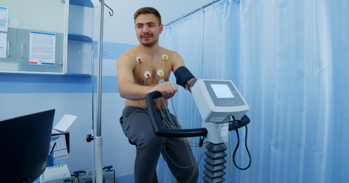
[[(206, 176), (203, 177), (203, 180), (207, 183), (221, 183), (225, 181), (225, 178), (223, 178), (225, 175), (224, 163), (227, 162), (224, 159), (227, 156), (225, 153), (227, 146), (224, 143), (228, 142), (229, 131), (236, 130), (238, 133), (238, 128), (250, 123), (250, 119), (245, 115), (250, 108), (234, 83), (229, 80), (198, 79), (191, 91), (203, 119), (202, 128), (163, 128), (153, 102), (153, 99), (162, 97), (159, 92), (151, 92), (146, 96), (151, 126), (155, 135), (159, 137), (201, 136), (201, 145), (203, 138), (207, 137), (207, 141), (210, 143), (206, 146), (208, 151), (205, 153), (207, 155), (205, 161), (207, 164), (204, 165), (206, 170), (203, 171)], [(236, 123), (236, 121), (238, 122)], [(229, 124), (230, 122), (232, 123)], [(237, 148), (235, 152), (236, 150)]]

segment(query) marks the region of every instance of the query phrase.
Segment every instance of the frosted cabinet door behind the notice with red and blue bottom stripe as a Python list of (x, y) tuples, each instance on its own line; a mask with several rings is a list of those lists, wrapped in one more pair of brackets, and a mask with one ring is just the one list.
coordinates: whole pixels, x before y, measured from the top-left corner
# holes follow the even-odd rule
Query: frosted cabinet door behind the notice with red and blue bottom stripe
[[(18, 0), (16, 65), (21, 71), (62, 72), (64, 10), (60, 0)], [(55, 64), (29, 64), (30, 31), (55, 33)], [(23, 43), (23, 46), (22, 46)], [(23, 51), (23, 55), (22, 55)]]

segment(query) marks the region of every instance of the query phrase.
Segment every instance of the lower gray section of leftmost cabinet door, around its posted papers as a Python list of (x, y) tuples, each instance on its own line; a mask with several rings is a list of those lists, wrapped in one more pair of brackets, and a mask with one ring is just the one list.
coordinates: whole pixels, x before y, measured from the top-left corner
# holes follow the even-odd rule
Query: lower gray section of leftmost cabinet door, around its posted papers
[(0, 70), (16, 70), (16, 28), (7, 28), (6, 58), (0, 58)]

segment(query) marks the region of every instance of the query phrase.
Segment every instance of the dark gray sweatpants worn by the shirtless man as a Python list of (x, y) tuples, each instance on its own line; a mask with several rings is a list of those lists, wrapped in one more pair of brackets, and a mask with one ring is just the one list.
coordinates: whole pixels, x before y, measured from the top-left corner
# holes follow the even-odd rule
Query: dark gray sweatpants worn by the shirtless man
[[(166, 121), (164, 124), (160, 110), (157, 110), (157, 113), (162, 126), (169, 128), (166, 125)], [(176, 117), (171, 113), (168, 114), (165, 110), (165, 118), (170, 121), (170, 117), (176, 128), (179, 129)], [(151, 128), (148, 113), (144, 109), (131, 106), (125, 107), (122, 110), (120, 124), (126, 137), (136, 144), (136, 160), (134, 163), (135, 183), (151, 183), (160, 152), (178, 182), (185, 183), (190, 179), (196, 166), (196, 163), (195, 166), (191, 166), (196, 161), (191, 147), (179, 138), (155, 136), (153, 128)], [(170, 128), (172, 127), (170, 126)], [(180, 168), (177, 165), (180, 167), (191, 167)], [(196, 183), (198, 178), (199, 170), (196, 169), (190, 183)]]

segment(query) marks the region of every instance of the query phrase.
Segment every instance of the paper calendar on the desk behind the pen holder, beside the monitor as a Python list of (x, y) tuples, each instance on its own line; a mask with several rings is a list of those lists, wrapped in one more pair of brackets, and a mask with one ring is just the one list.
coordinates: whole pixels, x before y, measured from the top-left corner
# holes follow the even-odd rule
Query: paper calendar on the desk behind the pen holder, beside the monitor
[(65, 141), (65, 135), (57, 135), (51, 137), (51, 144), (49, 154), (52, 150), (52, 146), (56, 143), (53, 149), (53, 161), (68, 158), (67, 143)]

